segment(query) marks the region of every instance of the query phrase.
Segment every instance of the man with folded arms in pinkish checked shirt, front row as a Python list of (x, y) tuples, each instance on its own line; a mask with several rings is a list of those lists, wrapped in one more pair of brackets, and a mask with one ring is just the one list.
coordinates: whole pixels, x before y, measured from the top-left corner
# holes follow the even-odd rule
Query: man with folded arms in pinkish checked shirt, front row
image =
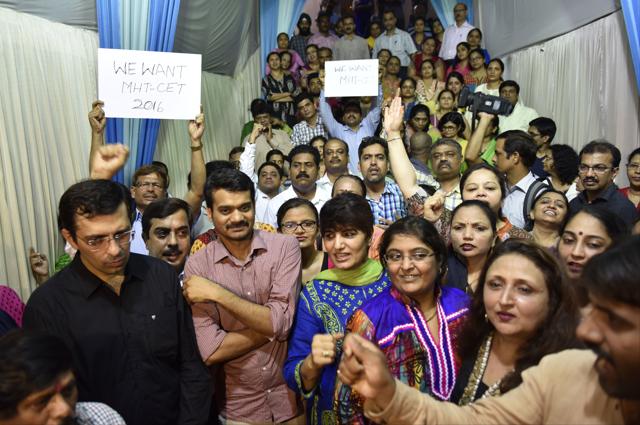
[(300, 291), (298, 242), (253, 229), (254, 185), (240, 171), (215, 172), (205, 198), (217, 238), (187, 260), (183, 292), (202, 359), (222, 366), (220, 419), (287, 423), (298, 416), (282, 377)]

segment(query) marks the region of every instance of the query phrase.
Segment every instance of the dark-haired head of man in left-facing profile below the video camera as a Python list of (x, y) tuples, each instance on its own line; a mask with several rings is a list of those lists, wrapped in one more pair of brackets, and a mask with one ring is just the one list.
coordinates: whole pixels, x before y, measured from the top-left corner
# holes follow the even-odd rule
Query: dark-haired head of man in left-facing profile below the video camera
[(536, 160), (537, 151), (533, 138), (524, 131), (505, 131), (496, 138), (494, 162), (496, 168), (505, 174), (514, 169), (528, 171)]

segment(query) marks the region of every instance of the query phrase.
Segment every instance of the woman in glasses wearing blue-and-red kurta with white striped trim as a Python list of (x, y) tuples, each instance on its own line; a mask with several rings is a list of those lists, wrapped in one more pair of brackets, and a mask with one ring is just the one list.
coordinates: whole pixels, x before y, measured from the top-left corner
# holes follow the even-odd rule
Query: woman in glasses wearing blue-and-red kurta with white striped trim
[[(447, 251), (435, 227), (406, 217), (384, 234), (380, 258), (392, 286), (356, 310), (347, 323), (385, 353), (393, 376), (420, 391), (448, 400), (456, 382), (458, 331), (469, 303), (460, 289), (443, 286)], [(338, 423), (370, 423), (351, 388), (336, 386)]]

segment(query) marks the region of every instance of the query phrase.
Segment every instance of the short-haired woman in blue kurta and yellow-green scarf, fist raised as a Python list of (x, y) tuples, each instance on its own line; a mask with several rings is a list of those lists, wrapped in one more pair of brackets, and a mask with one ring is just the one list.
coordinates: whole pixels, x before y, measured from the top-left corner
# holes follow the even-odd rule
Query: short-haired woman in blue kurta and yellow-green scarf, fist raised
[(335, 423), (333, 394), (345, 323), (388, 286), (382, 265), (367, 257), (373, 229), (367, 200), (345, 193), (320, 211), (320, 231), (334, 268), (307, 283), (289, 339), (284, 377), (307, 400), (307, 424)]

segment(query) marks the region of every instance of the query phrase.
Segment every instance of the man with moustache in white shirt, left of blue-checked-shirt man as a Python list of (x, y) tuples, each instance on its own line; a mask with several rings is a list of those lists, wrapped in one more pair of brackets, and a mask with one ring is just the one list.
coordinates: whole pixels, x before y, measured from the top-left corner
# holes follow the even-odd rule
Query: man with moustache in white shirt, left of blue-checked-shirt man
[(331, 199), (331, 190), (318, 185), (320, 153), (311, 145), (296, 146), (289, 153), (289, 177), (291, 186), (269, 202), (265, 222), (277, 228), (278, 209), (292, 198), (305, 198), (315, 205), (318, 213)]

